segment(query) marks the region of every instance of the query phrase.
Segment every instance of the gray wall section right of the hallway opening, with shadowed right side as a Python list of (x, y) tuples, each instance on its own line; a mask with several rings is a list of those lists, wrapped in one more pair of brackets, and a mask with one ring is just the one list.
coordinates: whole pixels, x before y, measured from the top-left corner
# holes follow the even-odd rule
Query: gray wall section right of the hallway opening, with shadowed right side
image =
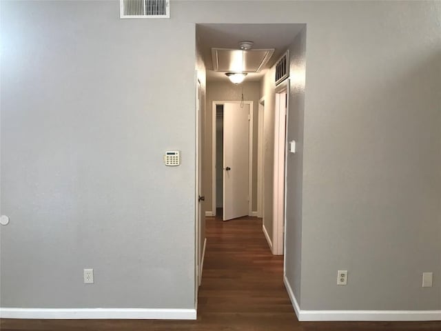
[(441, 2), (323, 10), (307, 26), (302, 309), (440, 309), (441, 282), (421, 283), (441, 277)]

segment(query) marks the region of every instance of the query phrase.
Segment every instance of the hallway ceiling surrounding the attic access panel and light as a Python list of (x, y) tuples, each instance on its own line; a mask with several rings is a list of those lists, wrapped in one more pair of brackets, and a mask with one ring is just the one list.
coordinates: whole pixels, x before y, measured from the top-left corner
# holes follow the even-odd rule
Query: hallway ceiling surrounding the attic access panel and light
[(196, 38), (207, 68), (207, 81), (228, 81), (223, 72), (214, 72), (212, 48), (239, 49), (239, 41), (254, 41), (252, 49), (274, 48), (274, 54), (259, 73), (249, 73), (245, 81), (260, 81), (268, 68), (287, 50), (305, 24), (197, 24)]

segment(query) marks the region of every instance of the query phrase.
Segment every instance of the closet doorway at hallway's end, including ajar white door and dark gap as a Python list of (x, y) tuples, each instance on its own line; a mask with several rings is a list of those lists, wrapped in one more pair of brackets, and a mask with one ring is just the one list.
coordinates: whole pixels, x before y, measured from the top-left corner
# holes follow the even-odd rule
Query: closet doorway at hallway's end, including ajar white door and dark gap
[[(252, 214), (253, 101), (213, 101), (213, 210)], [(220, 216), (220, 215), (219, 215)]]

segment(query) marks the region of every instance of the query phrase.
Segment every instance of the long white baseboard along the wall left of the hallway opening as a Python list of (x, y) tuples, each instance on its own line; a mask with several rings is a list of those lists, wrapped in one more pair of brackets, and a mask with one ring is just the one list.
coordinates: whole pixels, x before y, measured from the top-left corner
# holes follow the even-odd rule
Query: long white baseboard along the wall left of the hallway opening
[(196, 309), (0, 308), (1, 319), (196, 319)]

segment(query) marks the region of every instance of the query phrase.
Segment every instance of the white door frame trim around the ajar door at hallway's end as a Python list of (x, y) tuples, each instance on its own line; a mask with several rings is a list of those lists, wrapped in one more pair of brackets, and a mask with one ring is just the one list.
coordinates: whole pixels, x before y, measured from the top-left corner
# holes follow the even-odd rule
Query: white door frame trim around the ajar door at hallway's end
[(248, 136), (248, 215), (252, 216), (253, 206), (253, 105), (254, 101), (216, 100), (212, 102), (212, 215), (216, 216), (216, 105), (224, 103), (242, 103), (249, 105), (249, 136)]

